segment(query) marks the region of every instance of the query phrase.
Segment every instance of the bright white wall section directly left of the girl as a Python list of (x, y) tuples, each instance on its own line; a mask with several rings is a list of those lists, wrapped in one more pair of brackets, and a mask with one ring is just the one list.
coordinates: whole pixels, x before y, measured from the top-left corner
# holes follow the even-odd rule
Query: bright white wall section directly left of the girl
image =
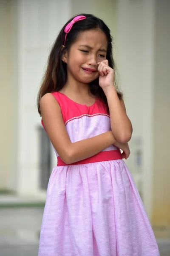
[(70, 1), (20, 0), (18, 10), (18, 186), (20, 194), (39, 192), (36, 97), (48, 48), (70, 14)]

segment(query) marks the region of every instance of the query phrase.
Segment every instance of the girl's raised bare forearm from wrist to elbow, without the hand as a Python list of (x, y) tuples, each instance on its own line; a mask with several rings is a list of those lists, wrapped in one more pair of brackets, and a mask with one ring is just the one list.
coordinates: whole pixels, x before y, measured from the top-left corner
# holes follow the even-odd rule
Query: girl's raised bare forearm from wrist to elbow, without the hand
[(127, 143), (132, 136), (132, 124), (126, 114), (123, 100), (119, 100), (114, 86), (104, 89), (111, 116), (111, 129), (116, 141)]

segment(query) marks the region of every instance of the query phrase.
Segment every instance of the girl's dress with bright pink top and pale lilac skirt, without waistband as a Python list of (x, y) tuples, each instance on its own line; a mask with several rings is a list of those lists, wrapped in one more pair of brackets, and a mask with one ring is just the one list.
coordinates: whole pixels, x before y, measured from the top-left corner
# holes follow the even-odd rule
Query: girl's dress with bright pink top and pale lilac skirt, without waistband
[[(110, 116), (101, 101), (87, 107), (62, 93), (52, 94), (61, 107), (72, 143), (111, 131)], [(111, 145), (103, 152), (113, 150), (117, 148)], [(125, 162), (101, 160), (54, 167), (38, 256), (159, 256)]]

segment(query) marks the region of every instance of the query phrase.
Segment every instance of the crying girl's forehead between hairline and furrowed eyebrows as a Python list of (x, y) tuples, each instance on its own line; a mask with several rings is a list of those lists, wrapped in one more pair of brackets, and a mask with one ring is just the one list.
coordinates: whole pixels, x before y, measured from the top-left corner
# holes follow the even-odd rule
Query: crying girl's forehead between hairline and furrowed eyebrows
[(89, 45), (92, 48), (105, 48), (107, 49), (108, 41), (106, 35), (100, 29), (90, 29), (79, 33), (75, 44)]

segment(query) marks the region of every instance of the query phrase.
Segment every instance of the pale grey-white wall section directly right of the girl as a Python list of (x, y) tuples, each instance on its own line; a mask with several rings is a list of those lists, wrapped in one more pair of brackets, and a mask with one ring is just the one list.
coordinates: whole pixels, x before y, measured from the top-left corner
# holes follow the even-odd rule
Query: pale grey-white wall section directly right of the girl
[[(135, 176), (133, 150), (142, 148), (142, 192), (149, 217), (153, 170), (154, 14), (154, 0), (117, 1), (117, 65), (127, 113), (133, 124), (129, 166)], [(136, 146), (137, 140), (141, 143)]]

